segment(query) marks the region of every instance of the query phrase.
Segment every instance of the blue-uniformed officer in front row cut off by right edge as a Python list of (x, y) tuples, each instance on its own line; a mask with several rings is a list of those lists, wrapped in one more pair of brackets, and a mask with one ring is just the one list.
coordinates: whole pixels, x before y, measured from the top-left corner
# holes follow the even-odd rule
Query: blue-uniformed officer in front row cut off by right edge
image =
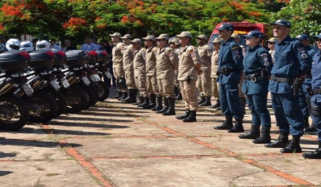
[[(321, 33), (314, 37), (317, 47), (321, 49)], [(321, 159), (321, 51), (313, 57), (312, 62), (311, 117), (318, 130), (319, 147), (312, 153), (304, 153), (304, 158)]]

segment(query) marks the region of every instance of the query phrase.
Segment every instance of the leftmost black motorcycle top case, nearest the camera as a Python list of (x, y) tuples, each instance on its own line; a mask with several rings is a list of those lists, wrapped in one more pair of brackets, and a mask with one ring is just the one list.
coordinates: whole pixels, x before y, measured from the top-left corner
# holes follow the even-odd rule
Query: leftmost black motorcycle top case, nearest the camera
[(7, 74), (18, 73), (30, 65), (30, 59), (27, 51), (5, 51), (0, 54), (0, 69)]

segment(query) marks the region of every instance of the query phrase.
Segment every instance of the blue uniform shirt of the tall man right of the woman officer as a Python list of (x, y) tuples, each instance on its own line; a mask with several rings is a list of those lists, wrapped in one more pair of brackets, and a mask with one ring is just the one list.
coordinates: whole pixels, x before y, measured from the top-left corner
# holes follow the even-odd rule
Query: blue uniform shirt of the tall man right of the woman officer
[[(283, 41), (275, 42), (274, 65), (271, 74), (279, 78), (293, 80), (307, 74), (311, 69), (311, 57), (304, 45), (287, 36)], [(291, 83), (270, 80), (269, 91), (272, 93), (292, 93)]]

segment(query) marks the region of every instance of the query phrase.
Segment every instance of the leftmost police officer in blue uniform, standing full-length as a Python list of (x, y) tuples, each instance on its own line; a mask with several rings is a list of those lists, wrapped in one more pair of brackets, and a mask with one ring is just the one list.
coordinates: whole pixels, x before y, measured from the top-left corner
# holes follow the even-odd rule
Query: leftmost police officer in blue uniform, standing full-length
[[(241, 47), (231, 38), (234, 27), (230, 23), (223, 23), (219, 30), (219, 37), (223, 39), (219, 54), (218, 78), (220, 84), (220, 102), (225, 121), (214, 127), (228, 132), (244, 132), (242, 120), (244, 117), (239, 99), (239, 81), (243, 73), (243, 55)], [(233, 126), (232, 119), (236, 120)]]

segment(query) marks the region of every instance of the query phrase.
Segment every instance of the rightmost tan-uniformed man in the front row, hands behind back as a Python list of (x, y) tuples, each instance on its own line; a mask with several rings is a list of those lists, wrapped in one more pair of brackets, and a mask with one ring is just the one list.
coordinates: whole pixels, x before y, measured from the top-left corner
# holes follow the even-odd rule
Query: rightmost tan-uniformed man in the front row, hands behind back
[(196, 81), (197, 74), (201, 73), (201, 58), (198, 55), (197, 49), (190, 45), (192, 34), (183, 31), (176, 35), (179, 38), (179, 43), (182, 45), (179, 55), (178, 80), (185, 100), (185, 114), (176, 116), (176, 119), (183, 119), (183, 122), (196, 121), (196, 111), (198, 109)]

